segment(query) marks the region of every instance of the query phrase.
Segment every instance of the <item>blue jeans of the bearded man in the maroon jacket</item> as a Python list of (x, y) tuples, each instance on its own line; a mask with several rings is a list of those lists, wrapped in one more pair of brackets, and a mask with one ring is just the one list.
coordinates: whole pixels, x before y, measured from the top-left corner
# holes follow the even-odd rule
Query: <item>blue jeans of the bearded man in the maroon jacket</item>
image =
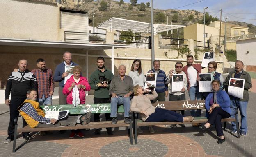
[[(190, 87), (188, 91), (188, 95), (190, 96), (190, 100), (202, 100), (202, 95), (199, 92), (198, 86)], [(196, 99), (197, 98), (197, 99)], [(190, 110), (190, 113), (193, 117), (200, 117), (201, 116), (201, 109), (200, 110)]]

